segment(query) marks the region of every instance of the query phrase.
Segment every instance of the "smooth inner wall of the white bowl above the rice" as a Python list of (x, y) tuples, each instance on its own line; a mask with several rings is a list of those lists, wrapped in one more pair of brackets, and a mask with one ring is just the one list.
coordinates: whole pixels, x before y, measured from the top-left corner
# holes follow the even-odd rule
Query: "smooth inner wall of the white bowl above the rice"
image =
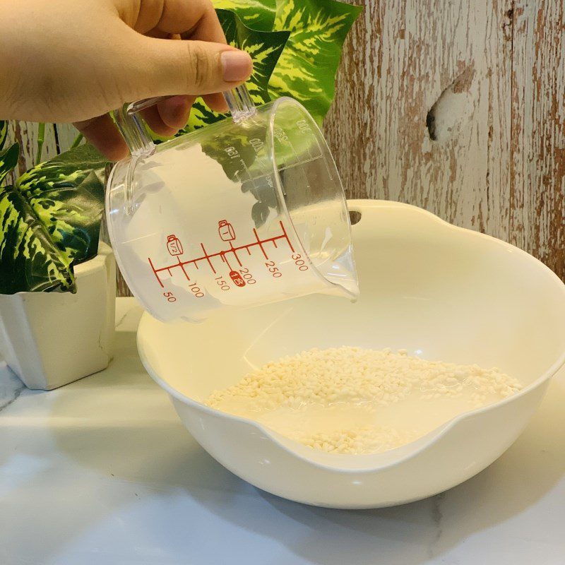
[[(313, 295), (140, 335), (154, 374), (205, 399), (252, 369), (311, 347), (408, 349), (410, 355), (499, 367), (527, 386), (565, 351), (565, 287), (508, 244), (419, 208), (350, 201), (361, 297)], [(157, 327), (158, 326), (158, 327)]]

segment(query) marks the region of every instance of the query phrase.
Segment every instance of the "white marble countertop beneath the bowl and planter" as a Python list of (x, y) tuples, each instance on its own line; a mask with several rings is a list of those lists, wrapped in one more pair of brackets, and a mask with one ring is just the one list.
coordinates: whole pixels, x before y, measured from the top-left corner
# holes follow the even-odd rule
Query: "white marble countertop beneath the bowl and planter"
[(0, 362), (2, 565), (564, 565), (565, 374), (504, 456), (374, 511), (258, 491), (203, 451), (138, 359), (117, 304), (111, 366), (51, 392)]

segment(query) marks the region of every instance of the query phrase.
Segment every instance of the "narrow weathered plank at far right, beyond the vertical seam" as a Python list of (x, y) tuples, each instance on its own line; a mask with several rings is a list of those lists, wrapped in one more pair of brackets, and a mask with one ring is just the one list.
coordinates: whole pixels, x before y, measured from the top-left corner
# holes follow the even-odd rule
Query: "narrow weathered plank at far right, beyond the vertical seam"
[(510, 240), (565, 279), (565, 8), (516, 1)]

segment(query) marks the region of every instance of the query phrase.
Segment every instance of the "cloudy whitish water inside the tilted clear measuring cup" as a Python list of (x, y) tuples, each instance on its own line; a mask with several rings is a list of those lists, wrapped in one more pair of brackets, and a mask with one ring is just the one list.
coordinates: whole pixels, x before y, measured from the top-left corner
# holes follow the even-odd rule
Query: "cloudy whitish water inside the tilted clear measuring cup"
[(331, 226), (321, 239), (309, 233), (307, 218), (326, 221), (322, 203), (294, 210), (292, 221), (276, 202), (258, 216), (249, 178), (228, 174), (199, 143), (157, 150), (136, 167), (133, 184), (133, 212), (114, 212), (122, 215), (114, 238), (128, 283), (158, 319), (196, 321), (224, 306), (335, 293), (320, 268), (340, 285), (355, 279), (348, 244), (336, 247)]

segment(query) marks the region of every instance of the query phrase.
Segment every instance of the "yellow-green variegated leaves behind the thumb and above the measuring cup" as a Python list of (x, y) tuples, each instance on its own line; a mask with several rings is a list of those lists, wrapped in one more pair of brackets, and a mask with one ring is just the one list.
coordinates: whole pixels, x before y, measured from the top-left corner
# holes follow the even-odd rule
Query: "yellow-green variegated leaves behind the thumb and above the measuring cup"
[[(213, 4), (227, 42), (253, 59), (254, 73), (247, 86), (255, 104), (291, 96), (321, 125), (335, 94), (343, 41), (361, 8), (335, 0), (213, 0)], [(223, 10), (237, 18), (220, 14)], [(181, 134), (224, 117), (198, 99)]]

